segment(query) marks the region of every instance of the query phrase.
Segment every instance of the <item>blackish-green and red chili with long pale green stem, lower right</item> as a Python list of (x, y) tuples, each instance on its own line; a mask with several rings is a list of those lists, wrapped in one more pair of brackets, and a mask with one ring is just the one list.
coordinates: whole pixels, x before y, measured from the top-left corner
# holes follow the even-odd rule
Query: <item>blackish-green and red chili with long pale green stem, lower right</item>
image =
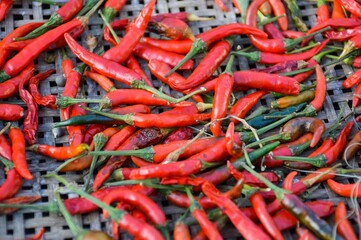
[[(249, 166), (242, 164), (243, 167), (251, 172), (253, 175), (257, 176), (262, 180), (269, 188), (271, 188), (276, 195), (276, 198), (279, 200), (281, 205), (292, 215), (294, 215), (302, 224), (304, 224), (309, 230), (311, 230), (315, 235), (322, 239), (333, 239), (334, 234), (331, 227), (319, 218), (312, 209), (310, 209), (306, 204), (304, 204), (295, 194), (288, 193), (284, 189), (277, 187), (276, 185), (270, 183), (267, 179), (259, 175), (255, 170)], [(336, 239), (340, 239), (339, 236), (335, 236)]]

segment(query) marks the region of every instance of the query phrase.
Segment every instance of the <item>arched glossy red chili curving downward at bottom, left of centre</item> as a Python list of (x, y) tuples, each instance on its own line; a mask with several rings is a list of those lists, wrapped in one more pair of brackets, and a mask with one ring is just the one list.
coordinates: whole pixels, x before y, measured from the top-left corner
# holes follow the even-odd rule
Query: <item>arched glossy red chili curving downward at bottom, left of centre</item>
[[(130, 189), (123, 191), (113, 191), (107, 194), (103, 200), (105, 204), (110, 205), (114, 201), (126, 202), (132, 206), (141, 209), (149, 219), (156, 225), (164, 226), (166, 224), (166, 217), (163, 210), (149, 197)], [(108, 213), (103, 211), (104, 218), (108, 217)]]

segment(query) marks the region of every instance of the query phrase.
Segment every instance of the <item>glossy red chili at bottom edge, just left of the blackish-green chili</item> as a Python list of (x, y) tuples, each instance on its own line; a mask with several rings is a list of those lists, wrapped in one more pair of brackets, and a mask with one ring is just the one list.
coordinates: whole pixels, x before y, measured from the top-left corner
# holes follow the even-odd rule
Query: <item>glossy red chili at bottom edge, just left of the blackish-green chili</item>
[(260, 193), (253, 194), (250, 198), (250, 202), (258, 219), (261, 221), (262, 225), (271, 235), (271, 237), (274, 239), (283, 239), (280, 230), (278, 230), (271, 215), (267, 211), (266, 202), (262, 195)]

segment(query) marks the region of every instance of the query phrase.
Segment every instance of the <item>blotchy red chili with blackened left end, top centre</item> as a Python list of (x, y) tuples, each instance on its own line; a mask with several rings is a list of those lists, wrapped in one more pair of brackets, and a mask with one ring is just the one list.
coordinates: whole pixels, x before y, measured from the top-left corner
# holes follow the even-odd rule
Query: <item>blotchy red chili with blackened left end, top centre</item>
[(177, 18), (163, 18), (161, 21), (149, 21), (148, 30), (167, 38), (194, 39), (192, 29), (184, 21)]

